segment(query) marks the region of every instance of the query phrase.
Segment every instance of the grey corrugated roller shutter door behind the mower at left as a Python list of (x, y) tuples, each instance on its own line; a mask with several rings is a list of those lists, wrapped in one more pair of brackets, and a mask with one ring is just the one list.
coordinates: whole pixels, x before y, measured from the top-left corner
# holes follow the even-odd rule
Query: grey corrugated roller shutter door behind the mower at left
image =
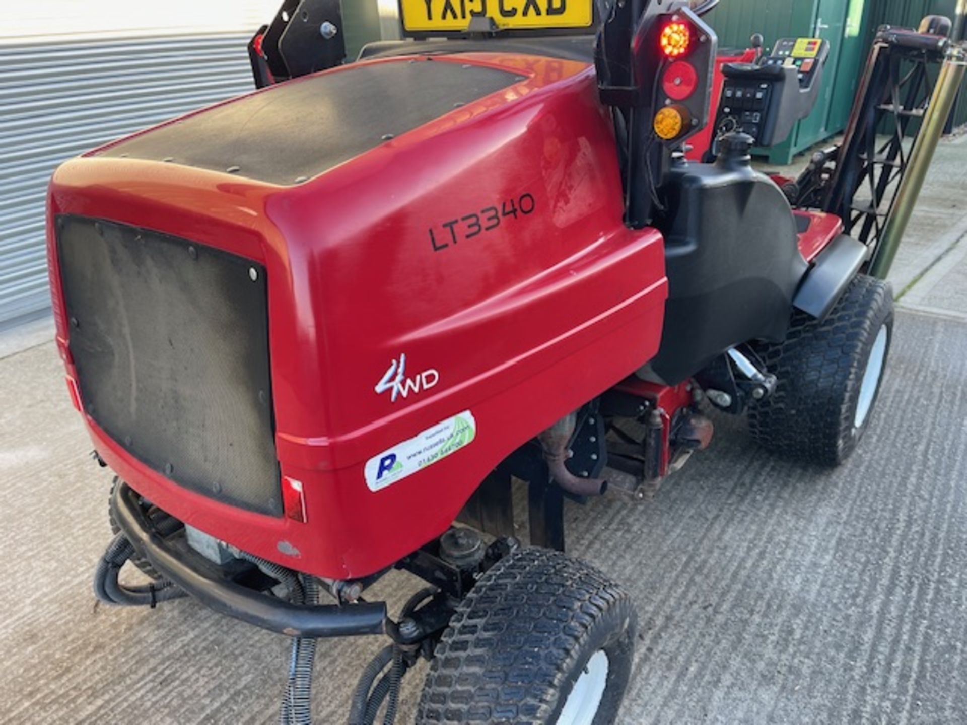
[(248, 34), (0, 45), (0, 330), (46, 314), (44, 195), (63, 160), (252, 89)]

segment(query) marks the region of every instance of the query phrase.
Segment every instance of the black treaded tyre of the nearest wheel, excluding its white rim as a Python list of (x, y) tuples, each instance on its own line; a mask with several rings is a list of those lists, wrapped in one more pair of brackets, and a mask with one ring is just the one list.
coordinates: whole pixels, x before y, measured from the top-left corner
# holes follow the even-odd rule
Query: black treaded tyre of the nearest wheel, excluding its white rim
[(633, 632), (629, 595), (592, 566), (542, 549), (498, 562), (444, 632), (417, 723), (548, 722), (577, 658), (589, 655), (582, 644), (592, 625), (606, 616), (629, 619)]

